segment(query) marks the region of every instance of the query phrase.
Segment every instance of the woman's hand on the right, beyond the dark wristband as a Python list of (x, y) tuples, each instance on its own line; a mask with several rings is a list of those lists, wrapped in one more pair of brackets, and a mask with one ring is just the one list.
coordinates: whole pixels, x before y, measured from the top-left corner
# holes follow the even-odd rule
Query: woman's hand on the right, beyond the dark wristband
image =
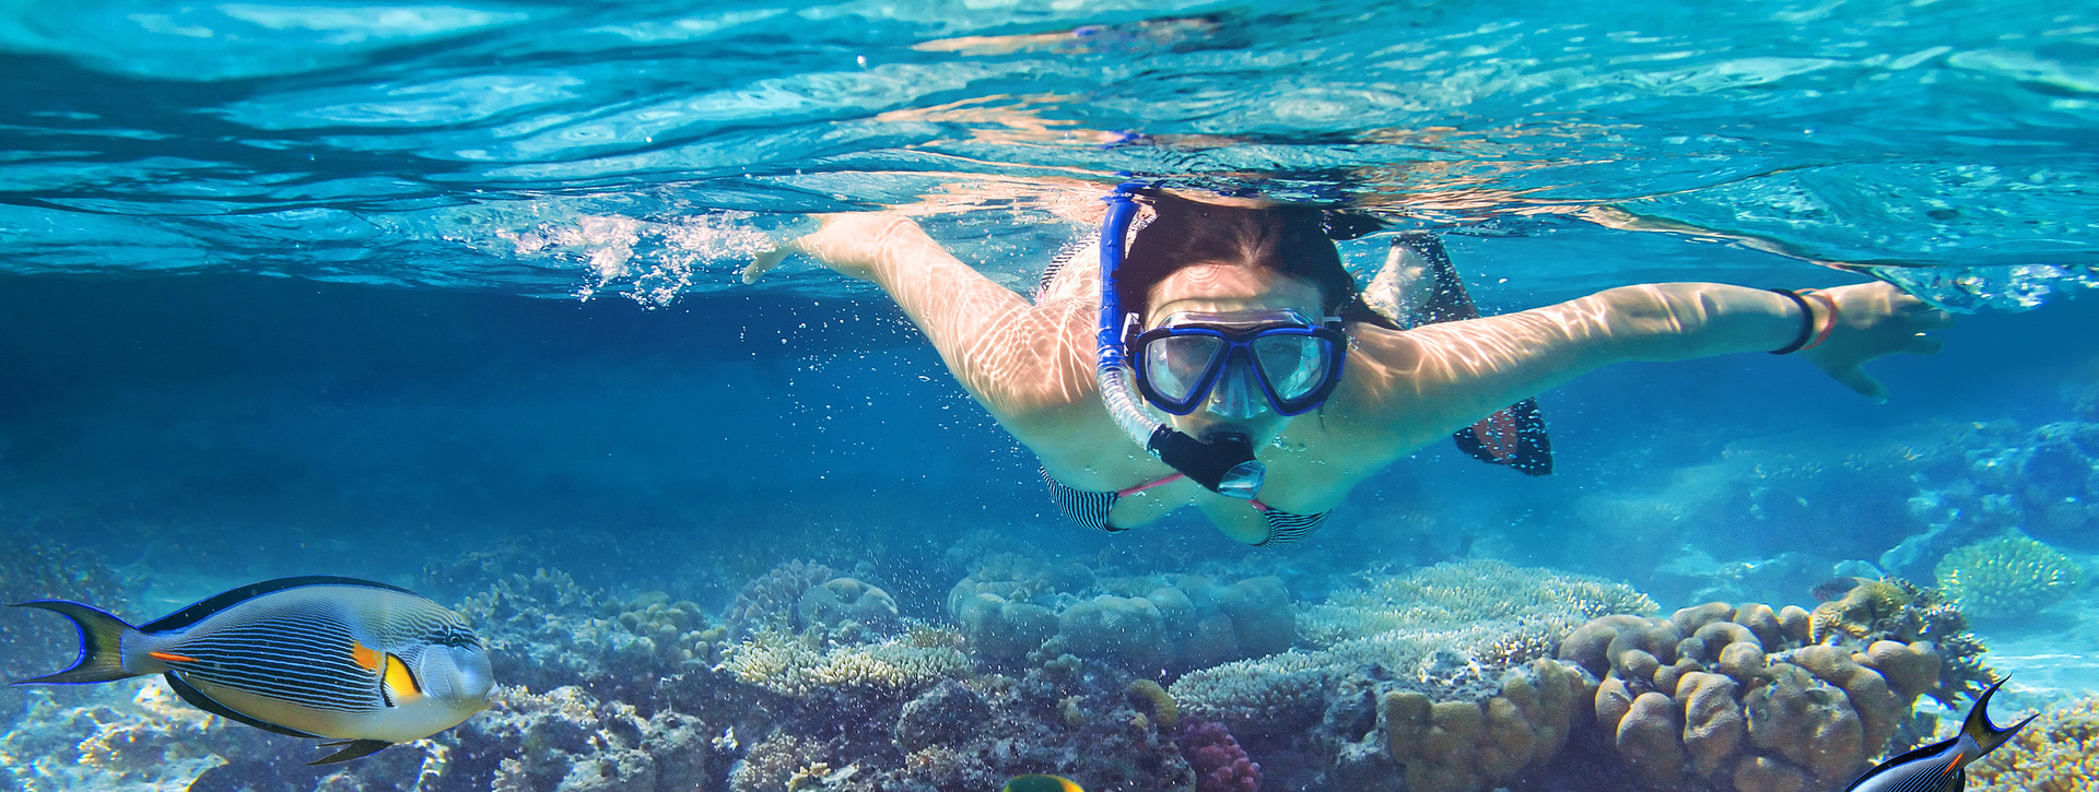
[(1944, 344), (1925, 333), (1954, 323), (1952, 314), (1883, 281), (1822, 289), (1822, 293), (1837, 302), (1837, 329), (1826, 344), (1801, 350), (1801, 356), (1877, 402), (1887, 400), (1887, 386), (1860, 367), (1895, 352), (1937, 352)]

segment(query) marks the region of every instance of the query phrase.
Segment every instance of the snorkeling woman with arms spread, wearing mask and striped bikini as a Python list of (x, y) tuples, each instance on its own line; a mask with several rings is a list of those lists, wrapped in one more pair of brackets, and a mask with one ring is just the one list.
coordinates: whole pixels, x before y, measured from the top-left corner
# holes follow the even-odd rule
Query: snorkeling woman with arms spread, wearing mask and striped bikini
[[(1450, 316), (1421, 285), (1358, 293), (1331, 220), (1125, 186), (1100, 241), (1058, 256), (1031, 302), (909, 218), (833, 214), (745, 279), (808, 254), (879, 285), (1041, 459), (1073, 522), (1121, 532), (1194, 505), (1247, 545), (1303, 538), (1358, 482), (1476, 423), (1490, 448), (1467, 450), (1539, 465), (1541, 448), (1522, 448), (1541, 440), (1524, 400), (1612, 362), (1797, 354), (1883, 398), (1860, 365), (1935, 352), (1923, 333), (1952, 323), (1879, 281), (1650, 283), (1486, 318), (1463, 302), (1467, 314)], [(1392, 251), (1377, 281), (1448, 270), (1434, 237), (1400, 237)]]

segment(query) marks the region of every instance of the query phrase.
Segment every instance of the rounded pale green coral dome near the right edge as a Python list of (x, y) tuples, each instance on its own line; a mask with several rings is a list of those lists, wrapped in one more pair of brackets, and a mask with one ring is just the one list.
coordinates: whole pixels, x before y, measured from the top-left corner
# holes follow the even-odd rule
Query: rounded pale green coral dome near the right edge
[(1933, 570), (1960, 612), (2023, 616), (2053, 606), (2084, 582), (2070, 555), (2026, 536), (2002, 536), (1946, 553)]

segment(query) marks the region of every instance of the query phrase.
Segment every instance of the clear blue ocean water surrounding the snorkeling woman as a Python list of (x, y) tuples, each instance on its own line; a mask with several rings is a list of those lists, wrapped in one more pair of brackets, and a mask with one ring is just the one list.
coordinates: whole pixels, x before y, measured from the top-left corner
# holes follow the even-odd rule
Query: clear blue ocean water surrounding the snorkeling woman
[[(754, 580), (814, 562), (886, 589), (905, 620), (968, 633), (951, 595), (995, 547), (1100, 580), (1276, 576), (1297, 650), (1327, 650), (1306, 637), (1314, 606), (1364, 574), (1467, 559), (1623, 580), (1662, 616), (1816, 608), (1811, 589), (1860, 564), (1931, 587), (1939, 557), (2007, 530), (2091, 576), (2093, 19), (2091, 2), (1960, 0), (0, 0), (0, 593), (115, 597), (103, 606), (145, 620), (275, 576), (458, 606), (542, 574), (609, 597), (590, 616), (617, 622), (661, 593), (733, 624)], [(1112, 538), (1070, 528), (1035, 459), (879, 291), (808, 262), (737, 277), (810, 214), (898, 207), (1024, 291), (1119, 174), (1440, 233), (1486, 312), (1650, 281), (1881, 277), (1960, 321), (1942, 354), (1872, 365), (1887, 404), (1786, 358), (1608, 369), (1541, 398), (1551, 478), (1438, 444), (1360, 486), (1312, 543), (1249, 551), (1192, 511)], [(1366, 277), (1381, 245), (1343, 254)], [(69, 656), (57, 618), (0, 616), (27, 637), (0, 662), (10, 675)], [(2091, 589), (1971, 626), (2015, 673), (2000, 706), (2099, 696)], [(588, 656), (571, 633), (563, 652)], [(978, 643), (972, 696), (997, 702), (995, 673), (1054, 670)], [(789, 769), (827, 767), (804, 782), (756, 769), (796, 752), (754, 746), (817, 740), (825, 717), (892, 729), (911, 696), (760, 725), (676, 698), (760, 694), (516, 664), (533, 694), (575, 683), (649, 719), (684, 708), (709, 738), (743, 729), (678, 748), (707, 756), (709, 790), (976, 777), (896, 746), (800, 748)], [(1085, 679), (1110, 694), (1146, 673), (1104, 668)], [(1180, 696), (1190, 670), (1161, 679)], [(82, 748), (122, 731), (82, 708), (141, 685), (8, 689), (0, 790), (418, 777), (399, 758), (336, 782), (264, 773), (306, 748), (136, 712), (122, 729), (151, 758)], [(1070, 685), (1045, 723), (1064, 698), (1106, 696)], [(1306, 744), (1234, 731), (1268, 788), (1364, 788)], [(460, 740), (460, 754), (510, 746)], [(428, 790), (508, 777), (420, 767)], [(667, 767), (651, 771), (661, 788)], [(659, 788), (518, 773), (506, 784)], [(1423, 788), (1387, 775), (1371, 788)], [(1568, 788), (1551, 771), (1522, 784)]]

